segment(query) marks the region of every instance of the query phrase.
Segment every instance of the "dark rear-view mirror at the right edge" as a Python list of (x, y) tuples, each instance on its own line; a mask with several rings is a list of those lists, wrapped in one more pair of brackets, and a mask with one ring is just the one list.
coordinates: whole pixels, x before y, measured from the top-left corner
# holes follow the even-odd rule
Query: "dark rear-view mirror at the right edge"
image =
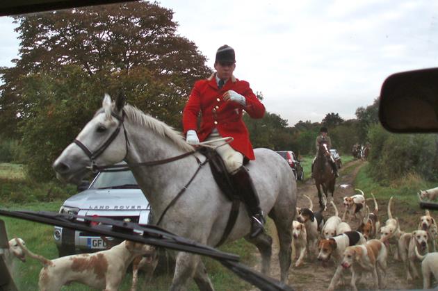
[(380, 92), (379, 119), (394, 133), (438, 133), (438, 68), (389, 76)]

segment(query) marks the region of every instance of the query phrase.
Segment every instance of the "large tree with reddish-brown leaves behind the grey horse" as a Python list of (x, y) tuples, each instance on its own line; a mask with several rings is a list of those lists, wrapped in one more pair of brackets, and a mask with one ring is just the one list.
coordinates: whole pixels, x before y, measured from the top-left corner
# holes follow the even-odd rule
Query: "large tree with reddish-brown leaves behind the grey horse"
[[(208, 76), (211, 69), (204, 65), (206, 58), (195, 44), (177, 35), (172, 15), (172, 10), (156, 3), (135, 1), (15, 17), (21, 40), (19, 59), (13, 60), (15, 67), (0, 69), (3, 134), (16, 136), (17, 123), (26, 117), (29, 103), (24, 103), (18, 93), (23, 78), (57, 72), (65, 65), (97, 76), (97, 82), (106, 84), (104, 88), (127, 86), (136, 88), (140, 96), (154, 85), (133, 84), (129, 78), (147, 74), (150, 82), (168, 88), (167, 92), (154, 92), (159, 96), (154, 108), (161, 106), (163, 110), (170, 101), (179, 99), (177, 107), (181, 110), (193, 83)], [(119, 77), (129, 84), (117, 80)], [(175, 115), (178, 110), (168, 111)]]

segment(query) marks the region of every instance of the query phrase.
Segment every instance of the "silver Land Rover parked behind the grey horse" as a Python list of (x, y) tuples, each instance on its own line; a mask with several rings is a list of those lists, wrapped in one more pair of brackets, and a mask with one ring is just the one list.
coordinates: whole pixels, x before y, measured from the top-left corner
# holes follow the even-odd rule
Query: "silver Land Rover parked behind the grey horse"
[[(101, 172), (88, 187), (87, 185), (81, 187), (86, 190), (65, 200), (59, 213), (108, 217), (138, 224), (149, 223), (151, 210), (149, 202), (138, 187), (131, 171)], [(113, 238), (106, 239), (113, 240)], [(106, 241), (99, 235), (60, 226), (55, 226), (54, 240), (59, 256), (89, 253), (106, 248)]]

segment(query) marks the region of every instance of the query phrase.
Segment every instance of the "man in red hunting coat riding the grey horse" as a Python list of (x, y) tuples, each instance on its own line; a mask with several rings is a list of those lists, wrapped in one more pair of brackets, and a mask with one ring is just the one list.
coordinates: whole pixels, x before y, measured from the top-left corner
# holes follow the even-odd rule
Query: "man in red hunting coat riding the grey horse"
[[(223, 45), (216, 52), (216, 72), (209, 78), (197, 81), (183, 112), (184, 133), (189, 144), (206, 140), (232, 137), (234, 140), (216, 149), (231, 174), (234, 187), (247, 205), (251, 217), (250, 237), (263, 232), (263, 213), (259, 197), (252, 184), (243, 159), (254, 160), (254, 151), (248, 129), (243, 123), (245, 110), (252, 118), (262, 118), (265, 107), (252, 92), (250, 84), (238, 80), (233, 72), (236, 68), (234, 49)], [(197, 117), (202, 114), (200, 128)], [(219, 142), (221, 144), (223, 142)]]

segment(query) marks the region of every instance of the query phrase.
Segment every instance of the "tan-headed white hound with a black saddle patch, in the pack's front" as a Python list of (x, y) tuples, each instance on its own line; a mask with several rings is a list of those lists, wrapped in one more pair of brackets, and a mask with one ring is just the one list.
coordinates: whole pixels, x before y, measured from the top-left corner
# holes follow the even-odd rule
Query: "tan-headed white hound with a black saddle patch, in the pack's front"
[(364, 244), (366, 242), (364, 235), (358, 231), (347, 231), (341, 235), (336, 235), (333, 238), (323, 239), (318, 244), (318, 260), (321, 260), (323, 264), (327, 263), (330, 258), (333, 258), (336, 271), (334, 272), (332, 281), (328, 290), (334, 290), (336, 283), (342, 274), (341, 260), (343, 258), (343, 251), (347, 247)]

